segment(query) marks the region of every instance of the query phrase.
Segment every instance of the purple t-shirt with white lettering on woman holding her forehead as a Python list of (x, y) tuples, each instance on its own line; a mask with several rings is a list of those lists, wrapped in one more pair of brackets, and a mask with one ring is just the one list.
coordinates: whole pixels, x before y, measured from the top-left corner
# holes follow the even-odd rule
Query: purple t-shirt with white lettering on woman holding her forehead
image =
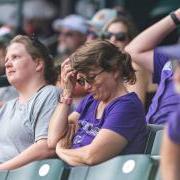
[(90, 144), (100, 129), (109, 129), (128, 140), (121, 154), (142, 153), (146, 140), (146, 122), (141, 101), (135, 93), (129, 93), (110, 102), (101, 119), (96, 119), (100, 101), (87, 95), (77, 108), (80, 128), (73, 139), (73, 148)]

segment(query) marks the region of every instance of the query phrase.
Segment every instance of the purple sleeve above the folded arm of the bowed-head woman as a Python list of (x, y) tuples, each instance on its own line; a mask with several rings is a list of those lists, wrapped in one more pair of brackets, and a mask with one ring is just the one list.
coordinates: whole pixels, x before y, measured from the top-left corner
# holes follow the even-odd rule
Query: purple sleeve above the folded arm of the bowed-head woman
[(138, 104), (135, 106), (127, 101), (116, 103), (107, 114), (102, 128), (112, 130), (131, 142), (143, 125), (145, 126), (144, 111)]

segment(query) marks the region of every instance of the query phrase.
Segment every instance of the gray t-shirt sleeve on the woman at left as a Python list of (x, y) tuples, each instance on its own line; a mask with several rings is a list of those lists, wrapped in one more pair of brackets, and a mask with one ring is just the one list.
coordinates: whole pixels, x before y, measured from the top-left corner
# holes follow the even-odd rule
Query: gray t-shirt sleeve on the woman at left
[(55, 87), (45, 89), (37, 97), (34, 105), (34, 137), (35, 141), (47, 138), (50, 118), (58, 104), (60, 91)]

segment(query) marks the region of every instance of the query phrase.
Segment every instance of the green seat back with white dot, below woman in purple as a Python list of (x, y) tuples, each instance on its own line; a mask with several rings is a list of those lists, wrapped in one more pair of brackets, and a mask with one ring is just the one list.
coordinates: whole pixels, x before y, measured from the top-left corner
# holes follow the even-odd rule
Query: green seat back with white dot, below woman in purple
[(79, 174), (78, 180), (151, 180), (155, 170), (156, 161), (149, 155), (124, 155), (96, 166), (81, 169), (84, 174), (79, 168), (74, 168), (69, 177), (72, 180), (73, 176), (78, 177)]

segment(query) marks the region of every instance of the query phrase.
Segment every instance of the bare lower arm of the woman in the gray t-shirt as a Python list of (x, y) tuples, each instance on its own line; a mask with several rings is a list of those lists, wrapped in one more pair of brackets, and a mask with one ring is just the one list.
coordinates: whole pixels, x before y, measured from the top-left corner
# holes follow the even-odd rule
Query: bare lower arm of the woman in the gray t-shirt
[(53, 156), (55, 156), (55, 150), (50, 150), (47, 146), (47, 140), (42, 139), (28, 147), (13, 159), (0, 164), (0, 170), (16, 169), (32, 161)]

